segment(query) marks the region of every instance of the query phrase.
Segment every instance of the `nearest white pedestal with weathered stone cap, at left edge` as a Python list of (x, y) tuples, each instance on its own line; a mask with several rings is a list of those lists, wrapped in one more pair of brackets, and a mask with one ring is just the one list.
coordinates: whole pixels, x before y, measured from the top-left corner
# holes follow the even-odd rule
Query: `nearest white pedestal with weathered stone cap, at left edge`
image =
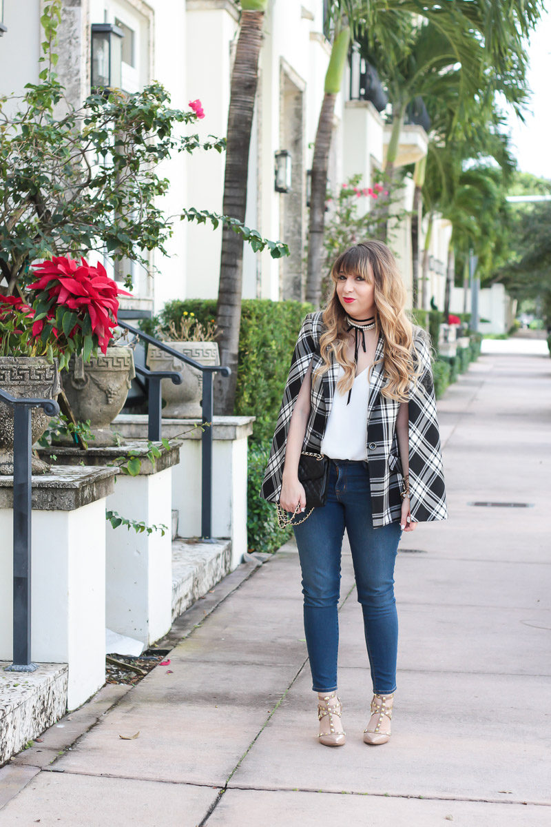
[[(69, 710), (105, 683), (105, 509), (115, 475), (57, 466), (32, 478), (31, 657), (69, 664)], [(12, 503), (13, 477), (0, 476), (2, 661), (12, 660)]]

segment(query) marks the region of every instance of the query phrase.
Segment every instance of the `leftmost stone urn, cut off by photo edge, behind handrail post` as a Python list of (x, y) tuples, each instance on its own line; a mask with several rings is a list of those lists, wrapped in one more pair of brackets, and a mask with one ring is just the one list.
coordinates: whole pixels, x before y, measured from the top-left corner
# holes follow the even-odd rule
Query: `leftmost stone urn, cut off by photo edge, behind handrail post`
[[(0, 356), (0, 388), (8, 394), (35, 399), (55, 399), (61, 390), (57, 360), (51, 364), (44, 356)], [(41, 408), (31, 409), (33, 444), (50, 422)], [(33, 455), (32, 473), (45, 474), (50, 466)], [(13, 408), (0, 401), (0, 474), (13, 474)]]

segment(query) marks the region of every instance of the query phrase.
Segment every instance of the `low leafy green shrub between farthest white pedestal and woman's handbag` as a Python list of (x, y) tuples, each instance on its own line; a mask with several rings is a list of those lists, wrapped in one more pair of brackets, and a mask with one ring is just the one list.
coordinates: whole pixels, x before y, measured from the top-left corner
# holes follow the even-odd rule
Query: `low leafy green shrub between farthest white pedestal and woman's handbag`
[(259, 497), (268, 465), (270, 440), (252, 442), (248, 453), (247, 547), (250, 552), (275, 552), (292, 535), (292, 528), (279, 528), (278, 510)]

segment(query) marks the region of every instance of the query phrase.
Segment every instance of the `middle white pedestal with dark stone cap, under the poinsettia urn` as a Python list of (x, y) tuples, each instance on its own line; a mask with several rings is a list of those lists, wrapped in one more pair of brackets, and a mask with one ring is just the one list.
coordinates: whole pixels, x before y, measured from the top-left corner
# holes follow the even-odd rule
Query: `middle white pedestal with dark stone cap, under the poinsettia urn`
[(112, 528), (106, 523), (106, 606), (107, 629), (128, 635), (150, 646), (166, 634), (172, 624), (172, 476), (180, 460), (181, 442), (172, 440), (154, 466), (146, 458), (144, 440), (126, 442), (124, 447), (55, 447), (40, 456), (64, 465), (84, 461), (88, 466), (105, 465), (117, 457), (140, 457), (137, 476), (119, 474), (115, 489), (107, 498), (107, 509), (121, 517), (148, 526), (165, 525), (160, 531), (136, 533), (134, 528)]

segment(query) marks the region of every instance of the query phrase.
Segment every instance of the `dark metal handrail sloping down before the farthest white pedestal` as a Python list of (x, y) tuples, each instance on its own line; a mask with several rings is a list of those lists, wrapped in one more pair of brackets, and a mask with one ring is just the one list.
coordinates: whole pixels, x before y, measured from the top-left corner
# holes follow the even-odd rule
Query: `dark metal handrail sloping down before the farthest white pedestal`
[[(155, 339), (153, 336), (150, 336), (149, 333), (144, 333), (137, 327), (133, 327), (131, 324), (122, 321), (120, 318), (118, 319), (117, 323), (120, 327), (124, 327), (125, 330), (128, 330), (135, 336), (139, 337), (140, 339), (143, 339), (144, 342), (148, 342), (148, 344), (150, 345), (159, 347), (159, 350), (164, 351), (165, 353), (169, 353), (170, 356), (174, 357), (174, 359), (179, 359), (180, 361), (185, 362), (186, 365), (191, 365), (192, 367), (197, 368), (197, 370), (201, 370), (202, 372), (201, 423), (203, 426), (207, 425), (207, 427), (203, 427), (201, 436), (201, 536), (204, 539), (210, 539), (212, 533), (212, 376), (215, 373), (220, 373), (222, 376), (229, 376), (231, 374), (231, 369), (224, 365), (202, 365), (200, 362), (197, 362), (194, 359), (190, 358), (190, 356), (185, 356), (183, 353), (178, 353), (177, 350), (174, 350), (173, 347), (167, 345), (166, 342), (159, 342), (159, 339)], [(136, 368), (136, 370), (138, 369)], [(142, 373), (143, 370), (145, 369), (140, 368), (138, 370), (140, 375), (146, 375)], [(160, 385), (159, 395), (156, 396), (155, 399), (159, 399), (160, 409)], [(159, 421), (160, 438), (159, 409), (155, 407), (153, 414), (155, 417), (158, 418)], [(152, 412), (150, 410), (150, 417), (151, 413)], [(151, 420), (149, 419), (149, 423), (150, 422)], [(148, 430), (149, 428), (150, 424), (148, 424)]]

